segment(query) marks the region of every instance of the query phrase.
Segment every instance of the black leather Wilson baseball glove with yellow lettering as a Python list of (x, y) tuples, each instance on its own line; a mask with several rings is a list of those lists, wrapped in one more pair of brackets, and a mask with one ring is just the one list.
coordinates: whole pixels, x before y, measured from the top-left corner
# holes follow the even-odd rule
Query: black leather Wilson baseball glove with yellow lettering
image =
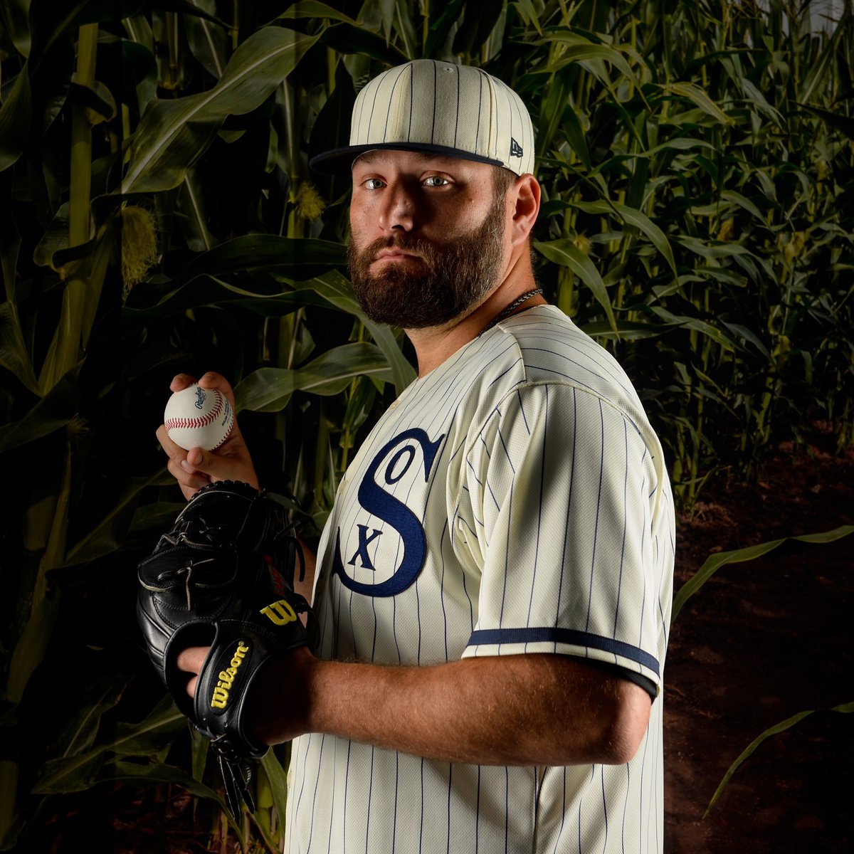
[[(138, 565), (137, 621), (149, 657), (178, 709), (211, 740), (225, 793), (237, 816), (254, 762), (267, 751), (246, 732), (246, 696), (274, 655), (312, 646), (308, 603), (294, 592), (305, 563), (288, 513), (248, 483), (220, 481), (200, 489)], [(307, 628), (299, 615), (307, 614)], [(210, 646), (196, 682), (175, 658), (187, 646)]]

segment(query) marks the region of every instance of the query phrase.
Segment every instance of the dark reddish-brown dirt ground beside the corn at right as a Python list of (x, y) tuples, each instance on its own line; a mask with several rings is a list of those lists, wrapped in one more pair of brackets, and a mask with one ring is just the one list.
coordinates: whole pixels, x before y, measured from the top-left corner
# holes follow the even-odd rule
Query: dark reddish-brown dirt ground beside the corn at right
[[(676, 589), (713, 551), (854, 524), (854, 454), (781, 447), (755, 486), (711, 484), (677, 531)], [(836, 852), (854, 846), (854, 535), (784, 544), (718, 570), (687, 601), (664, 674), (665, 851)], [(763, 742), (703, 814), (729, 765)]]

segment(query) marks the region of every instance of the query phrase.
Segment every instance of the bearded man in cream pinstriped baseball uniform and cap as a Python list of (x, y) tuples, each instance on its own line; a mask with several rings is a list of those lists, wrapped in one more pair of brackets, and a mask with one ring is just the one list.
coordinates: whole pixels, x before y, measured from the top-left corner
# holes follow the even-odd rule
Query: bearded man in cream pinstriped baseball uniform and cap
[[(249, 694), (254, 736), (294, 740), (287, 851), (662, 851), (670, 486), (629, 378), (535, 284), (533, 142), (500, 80), (418, 60), (313, 161), (352, 174), (354, 292), (418, 379), (338, 489), (317, 656)], [(158, 435), (188, 496), (258, 483), (239, 431)]]

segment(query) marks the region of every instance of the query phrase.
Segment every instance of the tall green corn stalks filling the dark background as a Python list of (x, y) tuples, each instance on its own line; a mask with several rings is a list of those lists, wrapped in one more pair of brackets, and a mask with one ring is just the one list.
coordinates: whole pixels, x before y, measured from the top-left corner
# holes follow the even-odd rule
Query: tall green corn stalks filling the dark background
[(0, 0), (0, 850), (49, 851), (67, 804), (108, 787), (184, 793), (217, 850), (278, 850), (284, 752), (231, 821), (139, 646), (135, 565), (181, 505), (154, 437), (174, 373), (230, 377), (308, 539), (414, 377), (349, 289), (348, 182), (307, 166), (386, 67), (477, 64), (529, 105), (537, 278), (629, 372), (687, 517), (781, 442), (850, 453), (852, 15)]

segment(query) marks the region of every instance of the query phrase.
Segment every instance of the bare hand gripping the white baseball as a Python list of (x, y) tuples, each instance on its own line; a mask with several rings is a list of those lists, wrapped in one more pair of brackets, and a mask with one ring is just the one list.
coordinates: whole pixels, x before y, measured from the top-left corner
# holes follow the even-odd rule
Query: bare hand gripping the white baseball
[[(234, 392), (225, 377), (208, 372), (197, 382), (202, 389), (219, 389), (228, 398), (231, 407), (234, 407)], [(181, 391), (192, 383), (196, 383), (196, 379), (189, 374), (178, 374), (169, 384), (169, 389), (173, 392)], [(243, 481), (256, 489), (260, 488), (249, 448), (246, 447), (237, 425), (237, 418), (228, 438), (215, 451), (205, 451), (201, 447), (185, 451), (167, 436), (164, 424), (157, 430), (157, 439), (169, 457), (167, 468), (178, 481), (178, 486), (187, 500), (203, 486), (220, 480)]]

